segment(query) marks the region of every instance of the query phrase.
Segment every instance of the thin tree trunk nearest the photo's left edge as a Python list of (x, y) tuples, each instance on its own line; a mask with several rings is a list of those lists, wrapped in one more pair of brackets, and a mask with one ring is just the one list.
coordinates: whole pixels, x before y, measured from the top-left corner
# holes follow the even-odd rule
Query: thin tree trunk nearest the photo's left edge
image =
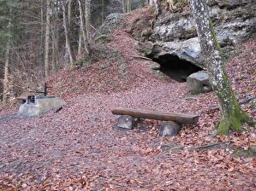
[[(8, 29), (10, 32), (11, 20), (9, 19)], [(7, 102), (8, 85), (9, 85), (9, 51), (10, 50), (10, 37), (6, 45), (5, 63), (4, 63), (4, 74), (3, 74), (3, 105)]]

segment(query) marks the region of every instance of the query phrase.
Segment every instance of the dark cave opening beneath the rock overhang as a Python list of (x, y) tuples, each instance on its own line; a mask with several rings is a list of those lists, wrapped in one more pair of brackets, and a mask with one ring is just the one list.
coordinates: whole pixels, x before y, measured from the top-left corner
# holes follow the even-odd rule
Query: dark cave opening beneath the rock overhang
[(177, 82), (186, 82), (187, 78), (193, 72), (203, 70), (201, 67), (195, 66), (190, 61), (180, 59), (177, 55), (160, 55), (158, 59), (152, 58), (152, 61), (160, 64), (160, 71), (166, 76), (175, 79)]

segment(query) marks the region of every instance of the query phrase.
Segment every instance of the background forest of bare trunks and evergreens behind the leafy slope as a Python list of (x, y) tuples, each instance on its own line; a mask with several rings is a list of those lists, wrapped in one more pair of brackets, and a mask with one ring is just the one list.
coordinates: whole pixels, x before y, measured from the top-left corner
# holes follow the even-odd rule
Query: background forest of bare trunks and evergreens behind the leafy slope
[[(0, 0), (0, 92), (3, 104), (35, 89), (88, 53), (93, 33), (111, 13), (146, 0)], [(40, 87), (39, 87), (40, 88)]]

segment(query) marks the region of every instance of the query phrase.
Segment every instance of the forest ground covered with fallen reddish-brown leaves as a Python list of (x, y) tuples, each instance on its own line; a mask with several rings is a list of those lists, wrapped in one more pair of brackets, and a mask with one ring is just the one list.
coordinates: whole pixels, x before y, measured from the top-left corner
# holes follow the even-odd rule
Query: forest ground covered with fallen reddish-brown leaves
[[(159, 77), (149, 61), (129, 56), (140, 53), (127, 32), (113, 36), (109, 46), (122, 52), (121, 62), (98, 61), (51, 78), (52, 93), (68, 103), (58, 113), (0, 112), (0, 190), (255, 190), (255, 158), (232, 155), (256, 144), (255, 129), (245, 124), (241, 133), (211, 138), (216, 96), (192, 96), (186, 83)], [(227, 65), (240, 100), (256, 96), (255, 47), (245, 43)], [(193, 113), (199, 123), (184, 125), (176, 137), (158, 136), (154, 120), (117, 130), (113, 107)], [(255, 121), (255, 101), (242, 107)], [(217, 142), (226, 143), (199, 148)]]

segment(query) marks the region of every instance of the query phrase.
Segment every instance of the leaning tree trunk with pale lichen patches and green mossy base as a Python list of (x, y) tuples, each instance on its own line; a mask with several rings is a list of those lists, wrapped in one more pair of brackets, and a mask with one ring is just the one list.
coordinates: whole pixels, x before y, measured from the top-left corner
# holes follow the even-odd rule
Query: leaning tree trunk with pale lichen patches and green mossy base
[(211, 87), (217, 95), (220, 105), (221, 121), (216, 134), (228, 134), (229, 130), (241, 130), (241, 123), (248, 122), (249, 117), (241, 110), (229, 83), (223, 65), (222, 51), (205, 0), (190, 0), (190, 3)]

